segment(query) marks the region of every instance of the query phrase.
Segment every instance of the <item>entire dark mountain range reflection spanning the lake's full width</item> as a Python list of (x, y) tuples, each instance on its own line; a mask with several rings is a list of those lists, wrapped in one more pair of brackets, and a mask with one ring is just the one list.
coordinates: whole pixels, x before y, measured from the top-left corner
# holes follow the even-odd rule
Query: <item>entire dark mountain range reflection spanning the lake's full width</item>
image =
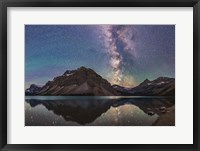
[(111, 107), (119, 107), (125, 104), (135, 105), (146, 114), (152, 111), (161, 114), (161, 107), (174, 105), (174, 98), (120, 98), (120, 99), (84, 99), (84, 100), (37, 100), (26, 99), (31, 107), (45, 106), (49, 111), (62, 116), (66, 121), (75, 121), (81, 125), (91, 123), (102, 113)]

